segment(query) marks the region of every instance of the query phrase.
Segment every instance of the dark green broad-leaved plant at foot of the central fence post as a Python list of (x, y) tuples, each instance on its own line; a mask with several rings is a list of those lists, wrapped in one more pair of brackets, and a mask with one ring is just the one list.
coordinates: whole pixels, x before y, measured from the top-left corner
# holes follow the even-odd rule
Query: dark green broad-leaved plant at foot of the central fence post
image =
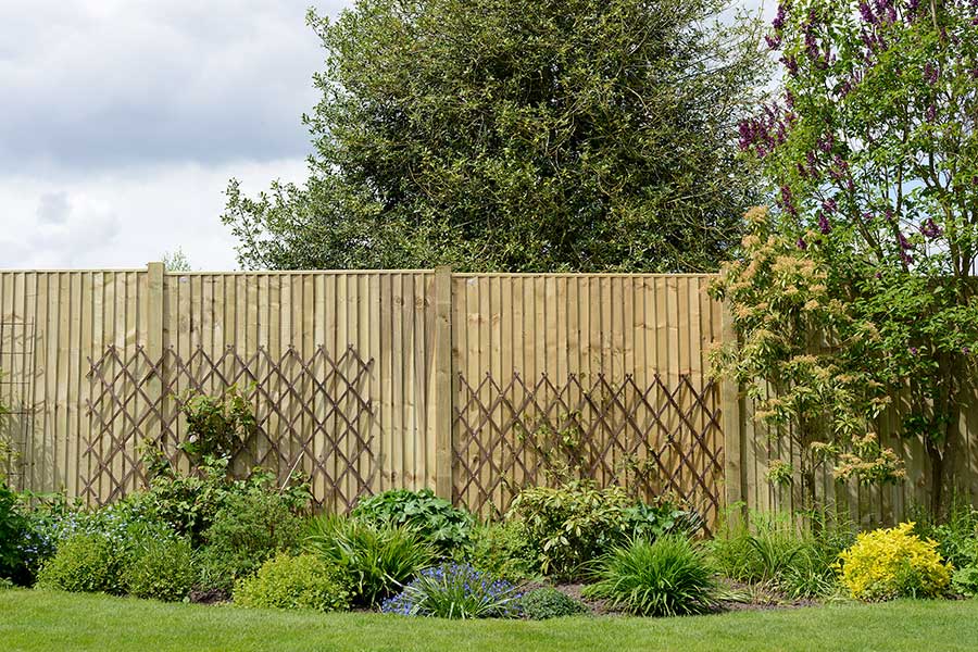
[(475, 519), (430, 489), (391, 489), (362, 499), (350, 514), (375, 526), (404, 526), (431, 541), (440, 552), (468, 546)]

